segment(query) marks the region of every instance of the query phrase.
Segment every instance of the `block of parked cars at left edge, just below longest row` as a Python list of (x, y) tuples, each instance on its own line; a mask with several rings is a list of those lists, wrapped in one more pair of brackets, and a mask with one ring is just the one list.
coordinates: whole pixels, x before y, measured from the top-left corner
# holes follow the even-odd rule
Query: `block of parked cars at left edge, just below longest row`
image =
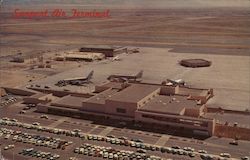
[(68, 142), (60, 138), (45, 137), (36, 134), (24, 133), (22, 131), (14, 131), (12, 129), (6, 129), (6, 128), (1, 128), (0, 133), (5, 135), (5, 139), (8, 139), (12, 135), (13, 136), (12, 140), (15, 142), (28, 143), (52, 149), (65, 149), (65, 146), (72, 144), (72, 142)]

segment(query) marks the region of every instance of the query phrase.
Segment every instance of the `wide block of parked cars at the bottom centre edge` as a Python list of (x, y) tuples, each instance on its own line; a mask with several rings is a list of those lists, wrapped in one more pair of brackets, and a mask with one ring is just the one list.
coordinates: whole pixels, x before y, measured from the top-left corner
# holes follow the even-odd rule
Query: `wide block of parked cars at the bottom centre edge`
[(130, 160), (130, 159), (161, 160), (162, 159), (161, 157), (152, 156), (145, 153), (117, 150), (111, 147), (91, 145), (87, 143), (84, 143), (82, 146), (75, 148), (74, 152), (78, 154), (94, 156), (94, 157), (102, 157), (104, 159), (113, 159), (113, 160)]

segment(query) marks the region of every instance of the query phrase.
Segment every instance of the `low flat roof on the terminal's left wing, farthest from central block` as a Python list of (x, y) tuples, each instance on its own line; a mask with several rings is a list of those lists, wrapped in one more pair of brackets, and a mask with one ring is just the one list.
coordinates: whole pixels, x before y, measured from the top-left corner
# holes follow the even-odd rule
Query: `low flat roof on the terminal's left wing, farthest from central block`
[(82, 107), (82, 101), (84, 101), (84, 99), (86, 98), (67, 95), (58, 100), (51, 102), (51, 105), (65, 107), (65, 108), (79, 109)]

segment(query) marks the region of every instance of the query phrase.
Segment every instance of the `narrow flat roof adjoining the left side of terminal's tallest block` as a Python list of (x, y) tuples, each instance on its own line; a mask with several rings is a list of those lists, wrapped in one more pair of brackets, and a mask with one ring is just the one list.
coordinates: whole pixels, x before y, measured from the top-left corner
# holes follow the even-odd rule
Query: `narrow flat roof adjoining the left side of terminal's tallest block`
[(118, 92), (117, 89), (107, 89), (101, 93), (96, 94), (93, 97), (88, 98), (84, 102), (97, 103), (97, 104), (105, 104), (106, 99), (111, 98)]

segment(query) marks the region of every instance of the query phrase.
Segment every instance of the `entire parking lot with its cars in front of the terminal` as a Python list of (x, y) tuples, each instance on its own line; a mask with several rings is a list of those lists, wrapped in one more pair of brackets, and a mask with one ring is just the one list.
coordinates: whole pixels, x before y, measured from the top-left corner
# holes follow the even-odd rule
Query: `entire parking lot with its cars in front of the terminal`
[[(5, 130), (4, 133), (1, 131), (2, 135), (0, 134), (0, 146), (6, 158), (12, 159), (14, 156), (15, 159), (37, 159), (37, 156), (41, 158), (47, 152), (51, 155), (59, 155), (59, 159), (74, 157), (78, 159), (119, 159), (119, 157), (126, 159), (126, 157), (138, 156), (138, 159), (157, 159), (158, 157), (159, 159), (188, 160), (201, 159), (201, 155), (218, 158), (221, 153), (230, 153), (233, 158), (239, 159), (250, 155), (250, 143), (246, 141), (240, 141), (238, 146), (233, 146), (228, 143), (230, 139), (216, 140), (215, 137), (211, 137), (201, 141), (129, 128), (117, 128), (94, 124), (89, 120), (43, 115), (36, 113), (35, 108), (32, 107), (24, 114), (20, 114), (25, 107), (27, 105), (16, 103), (0, 109), (1, 130)], [(81, 150), (81, 153), (74, 152), (76, 148), (81, 148), (84, 144), (92, 147)], [(14, 145), (14, 147), (5, 150), (4, 148), (8, 145)], [(108, 149), (103, 151), (100, 149), (102, 147)], [(110, 150), (110, 147), (115, 150)], [(27, 153), (25, 149), (32, 149), (32, 152)], [(204, 153), (203, 150), (205, 150)], [(26, 155), (19, 154), (20, 152), (25, 152)]]

